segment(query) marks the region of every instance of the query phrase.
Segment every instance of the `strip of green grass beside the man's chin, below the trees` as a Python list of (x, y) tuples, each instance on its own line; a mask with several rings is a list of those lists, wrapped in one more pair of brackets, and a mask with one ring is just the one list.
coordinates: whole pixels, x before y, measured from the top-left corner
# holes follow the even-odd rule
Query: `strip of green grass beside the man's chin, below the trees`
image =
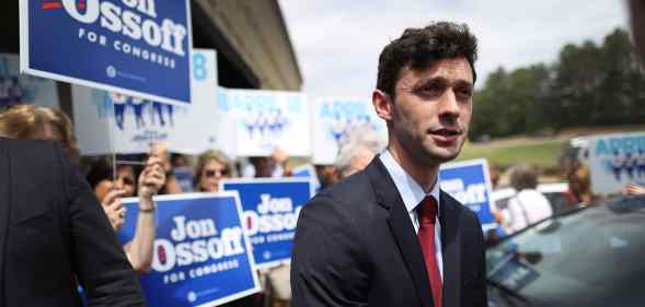
[(489, 164), (511, 166), (518, 163), (543, 168), (557, 167), (557, 157), (566, 140), (509, 141), (504, 143), (472, 144), (463, 146), (457, 161), (486, 158)]

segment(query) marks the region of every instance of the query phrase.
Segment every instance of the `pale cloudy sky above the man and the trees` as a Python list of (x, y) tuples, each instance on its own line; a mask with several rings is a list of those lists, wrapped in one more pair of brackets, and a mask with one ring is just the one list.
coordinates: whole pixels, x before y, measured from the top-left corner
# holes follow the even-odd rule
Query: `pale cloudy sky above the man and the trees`
[[(499, 67), (554, 63), (567, 43), (629, 28), (617, 0), (278, 0), (310, 96), (371, 97), (382, 48), (406, 27), (465, 23), (479, 39), (477, 86)], [(481, 78), (481, 79), (480, 79)], [(480, 81), (481, 80), (481, 81)]]

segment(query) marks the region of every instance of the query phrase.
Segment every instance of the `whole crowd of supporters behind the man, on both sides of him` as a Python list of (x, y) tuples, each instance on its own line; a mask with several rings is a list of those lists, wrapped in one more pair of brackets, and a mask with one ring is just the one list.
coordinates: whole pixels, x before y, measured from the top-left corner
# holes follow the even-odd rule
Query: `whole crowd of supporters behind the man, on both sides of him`
[[(103, 206), (115, 233), (126, 223), (124, 198), (138, 198), (136, 231), (123, 248), (131, 267), (145, 274), (151, 269), (157, 228), (156, 194), (182, 192), (218, 192), (226, 178), (288, 177), (293, 161), (279, 149), (270, 156), (232, 160), (221, 149), (197, 156), (171, 153), (163, 143), (151, 143), (149, 153), (139, 155), (81, 156), (71, 120), (60, 110), (34, 105), (14, 105), (0, 111), (0, 137), (42, 139), (58, 142), (81, 169)], [(106, 142), (108, 140), (105, 140)], [(371, 131), (354, 131), (339, 146), (334, 164), (314, 164), (319, 190), (365, 168), (385, 146)], [(577, 161), (563, 166), (568, 189), (564, 192), (566, 209), (598, 201), (591, 193), (589, 170)], [(189, 176), (180, 176), (180, 173)], [(492, 167), (491, 179), (497, 185), (500, 172)], [(538, 191), (538, 170), (529, 165), (507, 169), (505, 177), (516, 193), (505, 203), (492, 208), (502, 225), (491, 237), (508, 235), (551, 216), (553, 205)], [(637, 185), (625, 187), (625, 194), (645, 193)], [(289, 306), (289, 264), (260, 272), (264, 292), (224, 306)]]

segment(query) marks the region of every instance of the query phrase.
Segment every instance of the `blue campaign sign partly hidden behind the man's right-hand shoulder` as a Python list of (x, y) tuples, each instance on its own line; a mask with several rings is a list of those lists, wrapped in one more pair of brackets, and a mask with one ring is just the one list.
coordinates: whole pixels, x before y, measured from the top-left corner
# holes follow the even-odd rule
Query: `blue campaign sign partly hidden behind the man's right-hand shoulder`
[(492, 186), (486, 160), (441, 164), (439, 185), (441, 190), (477, 214), (484, 232), (497, 226), (491, 213)]

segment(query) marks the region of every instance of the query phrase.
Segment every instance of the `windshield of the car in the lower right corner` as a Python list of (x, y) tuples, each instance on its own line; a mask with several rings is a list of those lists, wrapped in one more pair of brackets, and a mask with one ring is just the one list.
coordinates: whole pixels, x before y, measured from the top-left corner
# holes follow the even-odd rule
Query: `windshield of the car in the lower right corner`
[(645, 305), (645, 198), (553, 217), (486, 251), (488, 280), (546, 306)]

